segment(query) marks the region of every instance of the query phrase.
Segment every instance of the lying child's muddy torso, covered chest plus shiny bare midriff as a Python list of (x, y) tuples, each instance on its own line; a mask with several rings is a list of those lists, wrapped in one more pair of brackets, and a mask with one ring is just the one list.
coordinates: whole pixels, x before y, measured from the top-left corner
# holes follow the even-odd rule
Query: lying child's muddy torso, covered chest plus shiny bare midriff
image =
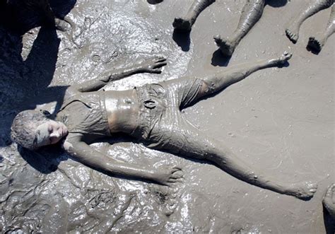
[(64, 122), (69, 134), (131, 133), (139, 115), (138, 103), (136, 90), (76, 93), (66, 98), (57, 120)]

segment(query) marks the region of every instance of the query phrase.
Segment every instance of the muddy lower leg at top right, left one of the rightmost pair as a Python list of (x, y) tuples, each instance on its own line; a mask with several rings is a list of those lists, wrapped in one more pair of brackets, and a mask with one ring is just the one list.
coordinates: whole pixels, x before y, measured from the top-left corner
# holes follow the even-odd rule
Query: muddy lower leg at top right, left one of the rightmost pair
[(319, 11), (329, 8), (334, 4), (334, 0), (313, 0), (307, 5), (303, 11), (301, 11), (298, 16), (296, 16), (292, 21), (290, 21), (288, 28), (286, 28), (285, 33), (288, 39), (294, 44), (299, 39), (300, 26), (307, 18), (315, 15)]

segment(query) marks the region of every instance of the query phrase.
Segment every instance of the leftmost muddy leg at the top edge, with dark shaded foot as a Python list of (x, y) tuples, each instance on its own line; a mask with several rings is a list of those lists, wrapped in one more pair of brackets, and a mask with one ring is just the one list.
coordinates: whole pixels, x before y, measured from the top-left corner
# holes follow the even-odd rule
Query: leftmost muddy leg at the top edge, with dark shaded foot
[(187, 15), (182, 18), (175, 18), (173, 22), (173, 27), (177, 30), (187, 30), (190, 31), (192, 29), (192, 25), (198, 18), (201, 11), (211, 5), (215, 0), (195, 0), (189, 8)]

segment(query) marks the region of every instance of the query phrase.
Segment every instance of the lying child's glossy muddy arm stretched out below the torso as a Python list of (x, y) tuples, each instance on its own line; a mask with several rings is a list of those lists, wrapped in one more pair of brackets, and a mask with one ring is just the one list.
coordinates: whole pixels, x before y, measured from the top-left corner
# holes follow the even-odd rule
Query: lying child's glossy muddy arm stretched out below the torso
[(178, 182), (182, 177), (181, 169), (177, 167), (145, 168), (114, 160), (99, 151), (95, 151), (86, 142), (82, 141), (82, 138), (83, 135), (81, 134), (69, 134), (64, 142), (64, 150), (69, 153), (71, 158), (90, 168), (112, 175), (152, 180), (162, 185)]

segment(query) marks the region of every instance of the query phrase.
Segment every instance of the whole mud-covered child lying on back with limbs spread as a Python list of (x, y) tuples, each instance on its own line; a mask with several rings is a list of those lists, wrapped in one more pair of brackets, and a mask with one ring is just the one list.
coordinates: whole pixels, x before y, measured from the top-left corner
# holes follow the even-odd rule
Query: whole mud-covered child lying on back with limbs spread
[(25, 110), (13, 120), (12, 138), (30, 150), (60, 144), (74, 159), (100, 171), (152, 180), (162, 185), (178, 182), (182, 171), (177, 166), (149, 169), (145, 165), (114, 160), (89, 146), (101, 137), (122, 132), (148, 148), (189, 158), (210, 160), (230, 175), (252, 185), (271, 189), (299, 199), (309, 199), (317, 185), (310, 182), (287, 183), (272, 180), (235, 156), (220, 141), (211, 139), (189, 124), (180, 110), (202, 98), (242, 81), (260, 69), (281, 66), (291, 54), (277, 59), (243, 64), (202, 78), (177, 78), (146, 84), (131, 90), (100, 90), (110, 81), (137, 73), (160, 73), (163, 57), (148, 59), (128, 69), (107, 71), (97, 79), (70, 86), (64, 105), (54, 119), (42, 112)]

